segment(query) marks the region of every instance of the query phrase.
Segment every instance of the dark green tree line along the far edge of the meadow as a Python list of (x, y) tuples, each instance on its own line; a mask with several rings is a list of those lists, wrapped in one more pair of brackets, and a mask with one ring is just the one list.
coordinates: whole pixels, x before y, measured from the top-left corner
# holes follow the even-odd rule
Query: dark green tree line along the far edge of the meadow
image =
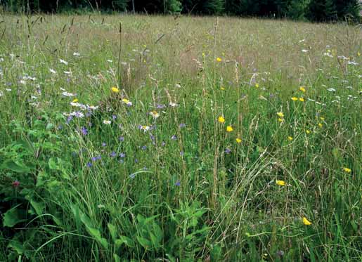
[(0, 0), (11, 12), (133, 12), (361, 21), (359, 0)]

